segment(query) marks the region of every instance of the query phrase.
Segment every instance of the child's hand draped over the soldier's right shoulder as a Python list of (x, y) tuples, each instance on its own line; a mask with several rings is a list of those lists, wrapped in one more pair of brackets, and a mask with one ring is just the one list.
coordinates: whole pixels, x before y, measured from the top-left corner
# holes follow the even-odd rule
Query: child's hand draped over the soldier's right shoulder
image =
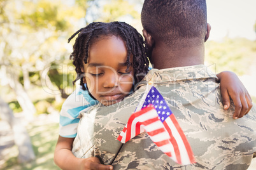
[(252, 98), (243, 83), (234, 72), (221, 72), (217, 75), (220, 79), (220, 92), (224, 109), (230, 107), (230, 98), (234, 101), (234, 119), (238, 119), (248, 114), (252, 108)]

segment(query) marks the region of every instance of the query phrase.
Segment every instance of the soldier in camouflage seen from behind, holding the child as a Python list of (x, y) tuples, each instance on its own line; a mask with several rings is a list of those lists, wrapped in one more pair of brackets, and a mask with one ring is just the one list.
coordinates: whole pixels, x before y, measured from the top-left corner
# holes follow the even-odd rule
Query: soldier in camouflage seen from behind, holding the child
[[(243, 119), (236, 119), (243, 116), (236, 114), (236, 103), (231, 102), (231, 108), (224, 110), (218, 79), (204, 65), (204, 42), (210, 35), (206, 1), (145, 0), (141, 22), (155, 69), (120, 103), (89, 110), (88, 114), (97, 110), (94, 157), (114, 169), (247, 169), (256, 151), (255, 108), (249, 104), (252, 109)], [(148, 81), (160, 91), (178, 120), (194, 152), (195, 164), (176, 164), (146, 133), (124, 145), (117, 140)], [(82, 117), (78, 128), (83, 128), (83, 121)], [(83, 136), (81, 131), (79, 136)], [(73, 147), (85, 145), (80, 144)]]

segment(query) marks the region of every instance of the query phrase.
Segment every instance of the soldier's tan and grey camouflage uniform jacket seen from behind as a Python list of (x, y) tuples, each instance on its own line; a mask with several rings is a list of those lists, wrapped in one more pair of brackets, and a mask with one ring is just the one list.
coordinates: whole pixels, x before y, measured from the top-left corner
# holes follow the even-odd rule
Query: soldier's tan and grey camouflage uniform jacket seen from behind
[[(150, 79), (164, 96), (187, 136), (196, 158), (195, 164), (176, 164), (156, 147), (146, 133), (139, 134), (124, 145), (117, 140)], [(153, 69), (138, 84), (138, 88), (120, 103), (108, 107), (99, 104), (88, 112), (97, 111), (92, 155), (99, 157), (103, 164), (110, 164), (120, 149), (112, 164), (114, 169), (248, 168), (256, 151), (255, 108), (242, 119), (234, 120), (234, 105), (224, 110), (217, 77), (207, 67)], [(83, 133), (78, 133), (80, 135)], [(83, 148), (85, 145), (86, 142), (83, 142), (74, 147)]]

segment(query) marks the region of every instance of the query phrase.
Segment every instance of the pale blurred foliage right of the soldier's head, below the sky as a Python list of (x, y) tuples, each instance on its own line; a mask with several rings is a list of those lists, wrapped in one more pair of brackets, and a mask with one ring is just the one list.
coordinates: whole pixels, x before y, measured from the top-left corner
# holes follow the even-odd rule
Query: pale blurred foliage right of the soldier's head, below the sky
[(206, 42), (206, 64), (216, 71), (230, 70), (238, 75), (250, 74), (256, 64), (256, 42), (244, 38), (225, 38), (222, 42)]

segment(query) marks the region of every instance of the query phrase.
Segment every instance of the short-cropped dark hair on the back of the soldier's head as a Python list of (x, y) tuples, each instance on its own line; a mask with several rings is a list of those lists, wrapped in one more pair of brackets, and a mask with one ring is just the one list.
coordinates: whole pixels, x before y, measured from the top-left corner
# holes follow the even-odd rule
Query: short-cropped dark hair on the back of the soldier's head
[(208, 39), (206, 18), (205, 0), (145, 0), (143, 36), (150, 34), (155, 43), (162, 42), (168, 48), (203, 44)]

